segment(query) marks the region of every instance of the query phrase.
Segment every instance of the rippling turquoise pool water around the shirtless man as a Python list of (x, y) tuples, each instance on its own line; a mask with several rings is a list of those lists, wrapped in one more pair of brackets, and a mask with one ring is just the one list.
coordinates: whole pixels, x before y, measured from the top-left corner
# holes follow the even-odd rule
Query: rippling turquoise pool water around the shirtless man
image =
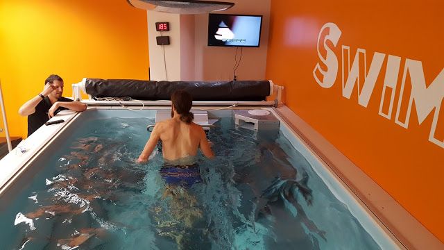
[(85, 122), (0, 214), (1, 249), (380, 249), (279, 131), (209, 133), (201, 180), (169, 185), (142, 151), (153, 119)]

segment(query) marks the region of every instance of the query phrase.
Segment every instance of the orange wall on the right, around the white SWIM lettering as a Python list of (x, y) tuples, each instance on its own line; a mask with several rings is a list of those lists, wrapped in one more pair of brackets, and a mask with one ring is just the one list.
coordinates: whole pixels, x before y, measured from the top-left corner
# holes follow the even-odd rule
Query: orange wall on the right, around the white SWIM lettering
[[(406, 58), (422, 62), (428, 87), (444, 69), (444, 1), (340, 2), (271, 2), (266, 78), (284, 85), (287, 106), (444, 241), (444, 148), (429, 141), (434, 113), (419, 124), (413, 106), (408, 128), (395, 123)], [(321, 27), (328, 22), (336, 24), (342, 32), (336, 47), (327, 42), (337, 57), (339, 70), (332, 87), (322, 88), (314, 79), (314, 69), (317, 63), (327, 69), (316, 48)], [(367, 69), (373, 53), (385, 54), (367, 107), (359, 105), (356, 86), (350, 99), (343, 97), (342, 45), (350, 47), (350, 60), (355, 58), (358, 48), (366, 49)], [(321, 46), (320, 51), (325, 57), (325, 47)], [(389, 54), (401, 58), (391, 119), (379, 115)], [(422, 97), (425, 103), (432, 96), (441, 98), (435, 138), (442, 142), (444, 78), (434, 85), (439, 88), (434, 93), (422, 93)], [(402, 107), (409, 100), (410, 81), (406, 86)]]

